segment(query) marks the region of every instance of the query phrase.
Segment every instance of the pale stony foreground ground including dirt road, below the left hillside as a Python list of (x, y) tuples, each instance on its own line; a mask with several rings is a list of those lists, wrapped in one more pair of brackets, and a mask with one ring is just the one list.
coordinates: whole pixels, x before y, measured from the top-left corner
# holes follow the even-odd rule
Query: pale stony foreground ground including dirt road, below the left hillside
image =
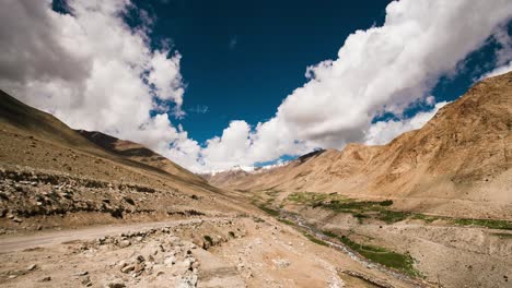
[(410, 287), (267, 216), (4, 236), (0, 247), (2, 287)]

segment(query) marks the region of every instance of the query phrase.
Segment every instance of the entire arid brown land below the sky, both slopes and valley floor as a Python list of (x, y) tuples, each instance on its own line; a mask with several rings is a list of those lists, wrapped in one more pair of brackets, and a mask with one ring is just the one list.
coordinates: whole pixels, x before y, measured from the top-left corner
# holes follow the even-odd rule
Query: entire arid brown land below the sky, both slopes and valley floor
[(511, 77), (387, 145), (203, 178), (1, 93), (0, 286), (508, 287)]

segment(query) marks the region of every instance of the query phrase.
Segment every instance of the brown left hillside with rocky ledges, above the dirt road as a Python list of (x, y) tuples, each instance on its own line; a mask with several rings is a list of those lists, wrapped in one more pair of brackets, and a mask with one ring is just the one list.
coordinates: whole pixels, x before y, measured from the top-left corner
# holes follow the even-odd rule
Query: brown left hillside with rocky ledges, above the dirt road
[(146, 154), (104, 149), (0, 93), (0, 233), (237, 213), (205, 180), (184, 169), (173, 173), (165, 169), (170, 160), (156, 163), (158, 154), (130, 147)]

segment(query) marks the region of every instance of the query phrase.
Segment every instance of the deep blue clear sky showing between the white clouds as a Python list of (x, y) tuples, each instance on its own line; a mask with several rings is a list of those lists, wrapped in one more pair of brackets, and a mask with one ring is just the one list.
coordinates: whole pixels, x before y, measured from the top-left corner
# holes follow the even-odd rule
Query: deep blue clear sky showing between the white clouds
[[(172, 121), (202, 145), (232, 120), (256, 125), (274, 117), (286, 96), (305, 83), (306, 67), (336, 58), (354, 31), (382, 25), (389, 2), (135, 1), (156, 20), (154, 47), (161, 39), (172, 39), (183, 55), (187, 116)], [(491, 70), (496, 46), (489, 39), (461, 63), (461, 71), (441, 79), (432, 89), (438, 101), (456, 99)], [(406, 113), (421, 109), (412, 107)], [(388, 118), (393, 116), (377, 119)]]

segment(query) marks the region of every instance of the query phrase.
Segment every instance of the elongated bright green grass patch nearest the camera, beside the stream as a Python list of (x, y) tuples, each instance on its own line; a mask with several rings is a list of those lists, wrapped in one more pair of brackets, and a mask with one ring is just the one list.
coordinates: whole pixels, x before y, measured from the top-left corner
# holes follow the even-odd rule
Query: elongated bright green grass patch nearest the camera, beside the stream
[(414, 277), (420, 276), (420, 273), (414, 266), (415, 260), (410, 255), (389, 251), (382, 247), (357, 243), (346, 236), (339, 237), (331, 231), (323, 231), (323, 233), (327, 237), (338, 239), (341, 243), (372, 262), (400, 271)]

